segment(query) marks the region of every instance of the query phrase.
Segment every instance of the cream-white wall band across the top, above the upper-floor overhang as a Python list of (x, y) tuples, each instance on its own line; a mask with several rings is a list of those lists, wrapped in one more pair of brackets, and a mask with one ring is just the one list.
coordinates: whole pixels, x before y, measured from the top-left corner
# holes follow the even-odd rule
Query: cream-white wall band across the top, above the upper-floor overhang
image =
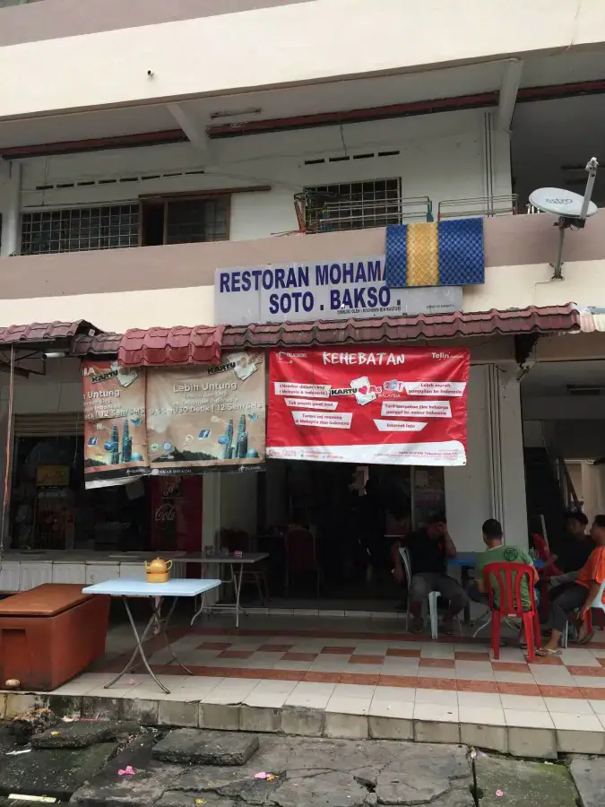
[(0, 110), (14, 117), (162, 102), (557, 53), (604, 39), (601, 0), (317, 0), (0, 48), (0, 75), (11, 77), (0, 82)]

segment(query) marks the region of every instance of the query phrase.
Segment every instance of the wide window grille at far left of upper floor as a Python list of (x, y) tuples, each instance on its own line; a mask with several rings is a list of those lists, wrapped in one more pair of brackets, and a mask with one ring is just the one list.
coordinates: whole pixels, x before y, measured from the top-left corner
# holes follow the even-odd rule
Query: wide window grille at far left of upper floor
[(137, 203), (22, 213), (22, 255), (85, 252), (138, 244)]

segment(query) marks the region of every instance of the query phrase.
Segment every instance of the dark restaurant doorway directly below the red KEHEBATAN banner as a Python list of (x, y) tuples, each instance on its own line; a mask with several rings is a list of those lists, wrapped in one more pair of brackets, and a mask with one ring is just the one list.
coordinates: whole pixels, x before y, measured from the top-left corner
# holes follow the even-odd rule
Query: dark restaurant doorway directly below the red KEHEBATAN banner
[(269, 460), (261, 498), (272, 597), (385, 610), (402, 600), (393, 541), (445, 512), (444, 469)]

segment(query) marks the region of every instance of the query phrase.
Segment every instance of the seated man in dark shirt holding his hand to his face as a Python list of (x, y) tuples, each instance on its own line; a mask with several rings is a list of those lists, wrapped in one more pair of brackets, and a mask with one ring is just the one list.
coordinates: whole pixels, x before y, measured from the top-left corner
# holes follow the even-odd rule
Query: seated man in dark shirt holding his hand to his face
[(445, 518), (431, 518), (425, 529), (417, 530), (407, 539), (402, 539), (402, 542), (393, 544), (395, 567), (393, 575), (400, 583), (404, 578), (402, 559), (399, 555), (401, 545), (410, 551), (412, 633), (421, 633), (424, 629), (422, 603), (427, 599), (429, 592), (438, 591), (449, 601), (443, 622), (444, 631), (447, 634), (453, 634), (454, 617), (466, 605), (467, 596), (458, 581), (445, 574), (447, 559), (456, 556), (456, 548), (447, 532)]

